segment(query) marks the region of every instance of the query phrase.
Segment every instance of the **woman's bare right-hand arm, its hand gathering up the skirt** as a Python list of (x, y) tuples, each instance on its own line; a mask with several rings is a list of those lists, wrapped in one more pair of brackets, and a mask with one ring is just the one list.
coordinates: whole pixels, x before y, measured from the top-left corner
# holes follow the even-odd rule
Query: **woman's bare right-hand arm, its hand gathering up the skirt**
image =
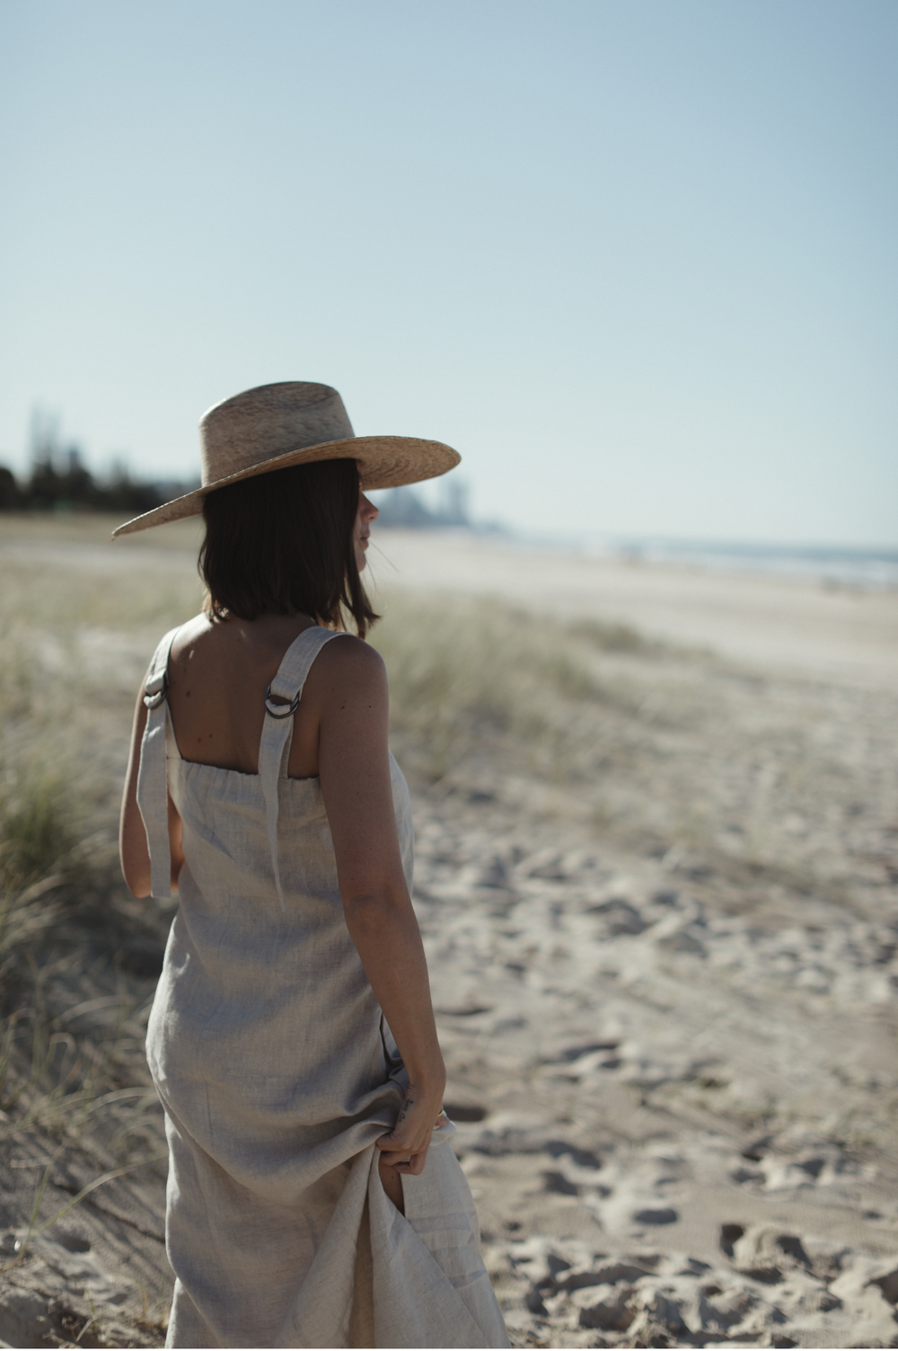
[(393, 812), (386, 670), (374, 648), (347, 638), (328, 643), (312, 671), (319, 774), (346, 927), (409, 1075), (400, 1117), (377, 1143), (388, 1165), (417, 1174), (442, 1111), (446, 1070)]

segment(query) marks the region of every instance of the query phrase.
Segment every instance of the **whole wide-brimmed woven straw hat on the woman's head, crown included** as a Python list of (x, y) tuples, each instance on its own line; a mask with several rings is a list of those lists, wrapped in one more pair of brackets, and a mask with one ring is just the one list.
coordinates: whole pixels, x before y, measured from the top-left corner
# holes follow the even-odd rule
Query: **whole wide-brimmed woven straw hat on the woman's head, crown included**
[(336, 389), (292, 380), (258, 385), (209, 408), (200, 422), (200, 440), (203, 486), (126, 521), (112, 531), (113, 539), (166, 520), (199, 516), (203, 499), (215, 488), (289, 465), (355, 459), (362, 488), (369, 489), (438, 478), (462, 458), (439, 440), (356, 436)]

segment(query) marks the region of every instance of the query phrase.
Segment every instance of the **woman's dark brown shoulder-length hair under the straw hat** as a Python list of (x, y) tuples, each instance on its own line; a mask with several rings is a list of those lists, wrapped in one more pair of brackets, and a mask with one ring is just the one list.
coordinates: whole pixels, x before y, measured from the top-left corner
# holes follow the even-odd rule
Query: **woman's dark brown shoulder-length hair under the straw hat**
[(212, 619), (309, 615), (359, 638), (378, 616), (355, 563), (354, 459), (321, 459), (216, 488), (203, 501), (200, 576)]

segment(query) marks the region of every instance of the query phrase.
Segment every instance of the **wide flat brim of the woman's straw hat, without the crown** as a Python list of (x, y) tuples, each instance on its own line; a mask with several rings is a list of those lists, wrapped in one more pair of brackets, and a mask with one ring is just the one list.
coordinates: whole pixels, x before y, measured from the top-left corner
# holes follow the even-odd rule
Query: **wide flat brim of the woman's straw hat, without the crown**
[(112, 538), (150, 530), (151, 526), (165, 526), (169, 520), (199, 516), (203, 512), (203, 499), (216, 488), (239, 484), (244, 478), (255, 478), (257, 474), (270, 474), (275, 469), (289, 469), (290, 465), (309, 465), (319, 459), (358, 461), (362, 488), (367, 490), (402, 488), (405, 484), (424, 482), (425, 478), (439, 478), (440, 474), (455, 469), (462, 457), (440, 440), (419, 440), (417, 436), (347, 436), (344, 440), (327, 440), (319, 446), (289, 450), (274, 459), (263, 459), (259, 465), (242, 469), (238, 474), (228, 474), (227, 478), (217, 478), (213, 484), (185, 493), (184, 497), (174, 497), (170, 503), (163, 503), (162, 507), (155, 507), (119, 526), (112, 531)]

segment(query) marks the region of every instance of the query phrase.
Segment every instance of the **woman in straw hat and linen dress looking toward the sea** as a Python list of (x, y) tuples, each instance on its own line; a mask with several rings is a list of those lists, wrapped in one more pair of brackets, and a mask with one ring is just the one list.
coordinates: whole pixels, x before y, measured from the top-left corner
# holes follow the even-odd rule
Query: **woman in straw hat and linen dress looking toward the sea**
[(201, 439), (203, 488), (116, 531), (207, 527), (207, 611), (138, 696), (120, 834), (131, 892), (181, 902), (147, 1028), (167, 1344), (508, 1346), (447, 1143), (408, 789), (362, 640), (362, 488), (458, 455), (355, 438), (312, 384), (226, 400)]

